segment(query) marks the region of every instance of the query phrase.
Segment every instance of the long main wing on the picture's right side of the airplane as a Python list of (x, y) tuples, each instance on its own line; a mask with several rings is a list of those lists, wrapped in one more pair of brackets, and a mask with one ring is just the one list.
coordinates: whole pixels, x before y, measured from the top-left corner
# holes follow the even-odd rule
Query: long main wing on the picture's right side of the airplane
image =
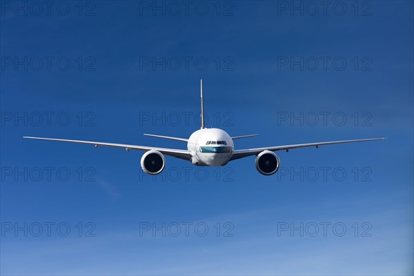
[(358, 140), (345, 140), (345, 141), (331, 141), (331, 142), (319, 142), (319, 143), (310, 143), (310, 144), (297, 144), (297, 145), (287, 145), (287, 146), (273, 146), (268, 148), (249, 148), (246, 150), (234, 150), (233, 156), (231, 160), (247, 157), (250, 155), (258, 155), (263, 150), (270, 150), (270, 151), (277, 151), (277, 150), (290, 150), (293, 148), (306, 148), (315, 146), (318, 148), (319, 146), (324, 145), (333, 145), (333, 144), (344, 144), (344, 143), (353, 143), (353, 142), (362, 142), (362, 141), (375, 141), (375, 140), (384, 140), (386, 138), (373, 138), (373, 139), (358, 139)]

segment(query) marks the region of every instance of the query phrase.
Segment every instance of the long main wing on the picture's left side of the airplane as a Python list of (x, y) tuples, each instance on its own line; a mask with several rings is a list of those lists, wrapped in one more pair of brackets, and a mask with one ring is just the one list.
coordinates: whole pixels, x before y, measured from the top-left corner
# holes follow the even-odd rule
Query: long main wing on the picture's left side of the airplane
[(23, 138), (29, 138), (29, 139), (39, 139), (39, 140), (51, 140), (51, 141), (63, 141), (63, 142), (71, 142), (71, 143), (79, 143), (79, 144), (91, 144), (95, 145), (95, 148), (98, 146), (112, 146), (116, 148), (125, 148), (128, 150), (142, 150), (142, 151), (148, 151), (148, 150), (158, 150), (164, 155), (177, 157), (179, 159), (184, 160), (191, 160), (191, 155), (188, 150), (175, 150), (173, 148), (154, 148), (154, 147), (148, 147), (148, 146), (135, 146), (135, 145), (126, 145), (126, 144), (114, 144), (114, 143), (103, 143), (103, 142), (94, 142), (94, 141), (81, 141), (81, 140), (68, 140), (68, 139), (55, 139), (55, 138), (42, 138), (42, 137), (28, 137), (25, 136)]

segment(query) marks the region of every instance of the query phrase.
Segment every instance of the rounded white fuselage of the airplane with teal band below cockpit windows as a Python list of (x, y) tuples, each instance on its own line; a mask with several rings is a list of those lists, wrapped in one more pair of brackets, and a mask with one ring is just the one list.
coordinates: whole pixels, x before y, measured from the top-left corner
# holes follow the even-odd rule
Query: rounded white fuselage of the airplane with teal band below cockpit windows
[(233, 139), (219, 128), (204, 128), (188, 139), (191, 162), (197, 166), (224, 166), (233, 155)]

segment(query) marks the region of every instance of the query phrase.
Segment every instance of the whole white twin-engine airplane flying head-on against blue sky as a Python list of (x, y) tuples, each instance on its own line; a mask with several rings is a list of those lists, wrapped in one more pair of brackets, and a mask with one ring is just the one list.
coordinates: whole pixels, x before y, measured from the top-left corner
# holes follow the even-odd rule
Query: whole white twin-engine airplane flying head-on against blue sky
[(55, 139), (55, 138), (42, 138), (42, 137), (23, 137), (29, 139), (51, 140), (51, 141), (64, 141), (79, 144), (92, 144), (95, 148), (98, 146), (112, 146), (116, 148), (125, 148), (129, 150), (141, 150), (144, 151), (144, 155), (141, 157), (141, 168), (149, 175), (157, 175), (161, 173), (166, 166), (166, 159), (164, 155), (170, 157), (176, 157), (190, 161), (195, 166), (225, 166), (228, 162), (235, 159), (240, 159), (252, 155), (256, 155), (255, 166), (256, 169), (262, 175), (273, 175), (280, 166), (280, 159), (275, 154), (275, 151), (279, 150), (292, 150), (294, 148), (306, 148), (353, 143), (360, 141), (375, 141), (384, 140), (386, 138), (371, 138), (371, 139), (356, 139), (356, 140), (344, 140), (344, 141), (327, 141), (308, 144), (296, 144), (287, 146), (270, 146), (264, 148), (248, 148), (244, 150), (235, 150), (233, 141), (235, 139), (243, 139), (247, 137), (255, 137), (255, 135), (243, 135), (233, 136), (228, 135), (227, 132), (219, 128), (205, 128), (204, 126), (204, 100), (203, 100), (203, 80), (200, 80), (201, 90), (201, 128), (193, 132), (188, 139), (169, 137), (162, 135), (144, 134), (150, 137), (159, 137), (164, 139), (172, 139), (177, 141), (183, 141), (187, 143), (187, 150), (179, 150), (174, 148), (156, 148), (150, 146), (135, 146), (128, 144), (115, 144), (104, 143), (97, 141), (81, 141), (81, 140), (69, 140), (69, 139)]

